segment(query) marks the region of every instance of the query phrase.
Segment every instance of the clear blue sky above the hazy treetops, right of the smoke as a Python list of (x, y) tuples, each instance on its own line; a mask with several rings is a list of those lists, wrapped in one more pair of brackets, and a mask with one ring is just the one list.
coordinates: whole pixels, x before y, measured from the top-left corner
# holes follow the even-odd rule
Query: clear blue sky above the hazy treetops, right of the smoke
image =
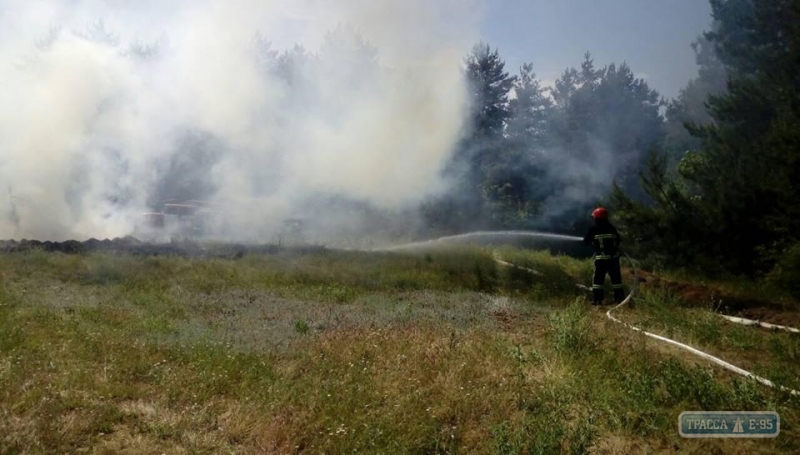
[(589, 51), (596, 66), (626, 61), (672, 98), (696, 76), (691, 42), (710, 22), (707, 0), (495, 0), (481, 34), (512, 73), (530, 62), (550, 83)]

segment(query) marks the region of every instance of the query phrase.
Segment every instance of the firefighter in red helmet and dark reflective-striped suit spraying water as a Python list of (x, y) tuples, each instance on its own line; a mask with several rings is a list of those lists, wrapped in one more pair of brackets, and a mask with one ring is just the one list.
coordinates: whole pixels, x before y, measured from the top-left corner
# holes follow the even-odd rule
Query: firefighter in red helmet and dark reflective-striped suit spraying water
[(598, 207), (592, 212), (594, 226), (589, 228), (584, 243), (594, 247), (594, 279), (592, 280), (592, 305), (603, 303), (603, 283), (606, 273), (611, 276), (614, 301), (622, 302), (625, 290), (619, 270), (619, 244), (622, 240), (617, 229), (608, 220), (608, 211)]

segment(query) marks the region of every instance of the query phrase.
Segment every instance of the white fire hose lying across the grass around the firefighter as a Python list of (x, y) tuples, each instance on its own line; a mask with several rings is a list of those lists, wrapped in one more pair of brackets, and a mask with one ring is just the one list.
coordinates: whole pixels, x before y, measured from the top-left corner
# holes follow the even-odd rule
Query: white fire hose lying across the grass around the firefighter
[[(721, 367), (723, 367), (723, 368), (725, 368), (727, 370), (733, 371), (734, 373), (740, 374), (740, 375), (748, 377), (748, 378), (755, 379), (756, 381), (758, 381), (759, 383), (761, 383), (763, 385), (766, 385), (768, 387), (777, 388), (777, 389), (785, 391), (785, 392), (789, 392), (793, 396), (800, 396), (800, 392), (798, 392), (797, 390), (790, 389), (790, 388), (787, 388), (787, 387), (783, 387), (781, 385), (777, 385), (777, 384), (773, 383), (772, 381), (770, 381), (769, 379), (762, 378), (761, 376), (758, 376), (758, 375), (753, 374), (753, 373), (751, 373), (751, 372), (749, 372), (747, 370), (739, 368), (736, 365), (730, 364), (730, 363), (728, 363), (728, 362), (726, 362), (726, 361), (724, 361), (724, 360), (722, 360), (722, 359), (720, 359), (718, 357), (714, 357), (713, 355), (708, 354), (706, 352), (703, 352), (703, 351), (701, 351), (701, 350), (699, 350), (697, 348), (693, 348), (693, 347), (691, 347), (689, 345), (686, 345), (686, 344), (683, 344), (683, 343), (679, 343), (679, 342), (677, 342), (675, 340), (669, 339), (667, 337), (663, 337), (661, 335), (656, 335), (654, 333), (646, 332), (646, 331), (640, 329), (639, 327), (632, 326), (632, 325), (630, 325), (630, 324), (628, 324), (626, 322), (622, 322), (619, 319), (615, 318), (611, 313), (614, 312), (615, 310), (621, 308), (623, 305), (627, 305), (633, 299), (633, 296), (636, 293), (636, 288), (639, 285), (639, 270), (636, 268), (636, 264), (634, 263), (634, 261), (627, 254), (625, 254), (625, 257), (628, 259), (628, 262), (630, 262), (631, 266), (633, 267), (633, 286), (631, 287), (631, 292), (627, 295), (627, 297), (625, 297), (625, 299), (622, 302), (620, 302), (618, 305), (614, 306), (613, 308), (611, 308), (610, 310), (608, 310), (606, 312), (606, 316), (609, 319), (611, 319), (612, 321), (614, 321), (616, 323), (622, 324), (622, 325), (628, 327), (631, 330), (634, 330), (636, 332), (642, 333), (642, 334), (644, 334), (644, 335), (646, 335), (646, 336), (648, 336), (650, 338), (654, 338), (656, 340), (663, 341), (664, 343), (668, 343), (668, 344), (671, 344), (673, 346), (677, 346), (677, 347), (679, 347), (681, 349), (684, 349), (686, 351), (691, 352), (692, 354), (694, 354), (694, 355), (696, 355), (698, 357), (702, 357), (702, 358), (704, 358), (706, 360), (710, 360), (711, 362), (714, 362), (717, 365), (719, 365), (719, 366), (721, 366)], [(506, 266), (506, 267), (515, 267), (515, 268), (518, 268), (520, 270), (526, 270), (526, 271), (528, 271), (530, 273), (533, 273), (534, 275), (541, 275), (540, 272), (537, 272), (537, 271), (535, 271), (533, 269), (528, 269), (526, 267), (520, 267), (518, 265), (502, 261), (502, 260), (500, 260), (500, 259), (498, 259), (496, 257), (495, 257), (495, 261), (497, 263), (503, 265), (503, 266)], [(580, 284), (578, 284), (576, 286), (578, 286), (581, 289), (589, 289), (586, 286), (583, 286), (583, 285), (580, 285)], [(731, 320), (730, 317), (726, 317), (726, 319)], [(734, 318), (734, 319), (742, 319), (742, 318)], [(750, 320), (744, 319), (744, 321), (750, 321)], [(738, 322), (738, 321), (733, 321), (733, 322)], [(792, 327), (774, 326), (772, 324), (759, 323), (758, 321), (750, 321), (750, 322), (755, 323), (755, 324), (749, 324), (749, 325), (759, 325), (761, 327), (768, 327), (768, 328), (781, 328), (781, 329), (787, 329), (787, 330), (792, 331), (792, 332), (798, 332), (797, 329), (794, 329)], [(745, 323), (747, 323), (747, 322), (745, 322)]]

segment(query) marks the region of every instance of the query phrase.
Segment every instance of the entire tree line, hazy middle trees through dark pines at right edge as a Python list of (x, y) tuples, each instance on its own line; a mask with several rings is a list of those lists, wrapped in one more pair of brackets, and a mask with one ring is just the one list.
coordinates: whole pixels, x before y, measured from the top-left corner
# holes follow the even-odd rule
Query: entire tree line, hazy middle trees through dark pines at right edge
[(545, 89), (531, 65), (510, 75), (476, 45), (459, 185), (429, 203), (432, 221), (577, 233), (605, 204), (653, 264), (766, 276), (800, 296), (800, 1), (710, 4), (698, 74), (672, 100), (589, 54)]

